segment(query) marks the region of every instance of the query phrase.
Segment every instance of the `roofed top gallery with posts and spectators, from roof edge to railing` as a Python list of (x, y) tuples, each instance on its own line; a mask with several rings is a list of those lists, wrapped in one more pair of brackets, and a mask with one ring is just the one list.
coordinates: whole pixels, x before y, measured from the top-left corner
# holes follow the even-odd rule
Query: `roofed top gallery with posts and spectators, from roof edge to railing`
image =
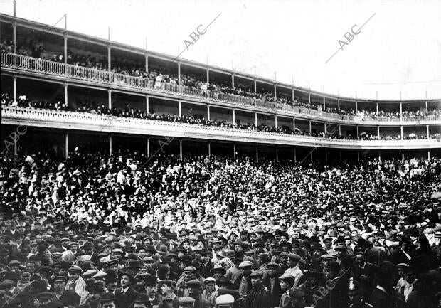
[[(4, 51), (41, 58), (42, 61), (47, 59), (72, 64), (82, 70), (74, 76), (68, 72), (68, 68), (63, 68), (61, 72), (48, 70), (51, 67), (49, 64), (45, 64), (46, 72), (33, 68), (33, 73), (64, 74), (64, 80), (68, 82), (76, 79), (90, 85), (105, 83), (108, 87), (124, 86), (131, 91), (151, 92), (152, 89), (144, 87), (142, 81), (127, 79), (159, 79), (171, 84), (164, 83), (161, 95), (206, 100), (210, 104), (245, 107), (258, 112), (294, 115), (301, 110), (312, 120), (339, 124), (354, 124), (364, 120), (369, 124), (394, 122), (397, 125), (398, 122), (404, 122), (405, 125), (437, 120), (437, 115), (441, 115), (441, 100), (363, 100), (340, 97), (6, 14), (0, 14), (0, 23), (3, 40), (1, 47)], [(108, 75), (107, 80), (102, 80), (85, 68), (92, 68), (96, 74), (122, 73), (124, 76)], [(28, 68), (14, 69), (29, 71)], [(182, 88), (171, 89), (175, 85), (181, 85)], [(432, 115), (435, 117), (430, 117)]]

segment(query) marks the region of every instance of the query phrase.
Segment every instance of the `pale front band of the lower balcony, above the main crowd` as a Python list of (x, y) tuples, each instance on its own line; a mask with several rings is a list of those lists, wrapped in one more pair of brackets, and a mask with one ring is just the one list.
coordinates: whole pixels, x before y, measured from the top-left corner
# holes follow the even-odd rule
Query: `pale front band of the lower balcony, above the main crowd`
[(23, 107), (1, 107), (3, 124), (47, 127), (93, 132), (125, 133), (146, 136), (167, 136), (189, 139), (220, 140), (255, 144), (321, 147), (336, 149), (435, 149), (441, 148), (440, 139), (414, 140), (353, 140), (329, 139), (280, 132), (206, 127), (198, 124), (165, 122), (94, 115), (59, 110), (38, 110)]

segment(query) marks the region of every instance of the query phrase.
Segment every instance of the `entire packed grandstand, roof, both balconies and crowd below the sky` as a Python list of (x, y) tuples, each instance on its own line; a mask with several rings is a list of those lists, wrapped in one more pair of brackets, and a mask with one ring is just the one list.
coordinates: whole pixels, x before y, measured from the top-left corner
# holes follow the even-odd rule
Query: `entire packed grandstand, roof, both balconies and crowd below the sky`
[(441, 303), (441, 99), (0, 14), (0, 308)]

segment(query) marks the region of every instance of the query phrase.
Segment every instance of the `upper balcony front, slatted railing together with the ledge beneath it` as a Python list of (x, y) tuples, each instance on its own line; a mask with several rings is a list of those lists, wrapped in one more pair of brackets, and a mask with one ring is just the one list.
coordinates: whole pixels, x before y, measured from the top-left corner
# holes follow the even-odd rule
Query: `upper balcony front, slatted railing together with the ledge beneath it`
[(310, 108), (296, 107), (277, 102), (225, 94), (211, 90), (196, 90), (184, 85), (157, 82), (107, 70), (84, 68), (78, 65), (57, 63), (13, 53), (1, 55), (2, 70), (17, 75), (33, 75), (36, 78), (47, 78), (63, 83), (78, 83), (89, 86), (105, 86), (109, 89), (126, 90), (144, 95), (156, 95), (173, 100), (189, 100), (208, 105), (218, 105), (260, 113), (275, 114), (284, 117), (296, 117), (306, 120), (324, 121), (335, 124), (359, 124), (373, 126), (441, 124), (441, 115), (425, 117), (371, 117), (371, 115), (339, 115)]

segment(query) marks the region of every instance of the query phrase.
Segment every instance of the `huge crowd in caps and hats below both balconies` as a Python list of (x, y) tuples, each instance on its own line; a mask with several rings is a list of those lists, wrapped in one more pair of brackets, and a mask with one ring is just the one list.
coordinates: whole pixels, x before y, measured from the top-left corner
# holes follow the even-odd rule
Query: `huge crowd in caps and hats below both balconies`
[(441, 160), (26, 152), (0, 164), (0, 302), (441, 307)]

